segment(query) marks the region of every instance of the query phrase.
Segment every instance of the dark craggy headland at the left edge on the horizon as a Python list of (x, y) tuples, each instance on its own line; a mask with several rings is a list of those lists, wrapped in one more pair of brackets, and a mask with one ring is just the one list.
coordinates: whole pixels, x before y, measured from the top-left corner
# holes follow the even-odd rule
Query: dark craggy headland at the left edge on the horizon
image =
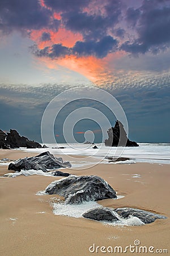
[(38, 142), (29, 141), (28, 138), (21, 137), (16, 130), (10, 130), (7, 134), (0, 130), (0, 148), (8, 149), (18, 147), (37, 148), (42, 146)]

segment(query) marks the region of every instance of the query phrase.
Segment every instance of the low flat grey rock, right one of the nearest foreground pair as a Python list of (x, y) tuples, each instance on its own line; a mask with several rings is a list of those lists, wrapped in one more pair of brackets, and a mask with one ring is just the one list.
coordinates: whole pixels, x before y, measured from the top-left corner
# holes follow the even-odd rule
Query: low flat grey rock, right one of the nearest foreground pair
[(117, 212), (123, 218), (128, 218), (129, 216), (138, 217), (145, 224), (154, 222), (158, 218), (160, 219), (167, 218), (160, 214), (147, 212), (146, 210), (133, 209), (133, 208), (117, 208), (117, 209), (114, 209), (114, 211)]

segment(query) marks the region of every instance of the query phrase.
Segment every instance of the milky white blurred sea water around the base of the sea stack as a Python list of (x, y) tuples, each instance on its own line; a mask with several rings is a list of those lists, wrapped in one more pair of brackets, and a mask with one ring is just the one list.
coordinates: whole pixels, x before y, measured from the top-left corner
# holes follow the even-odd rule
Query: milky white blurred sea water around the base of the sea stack
[[(133, 164), (139, 162), (170, 164), (170, 143), (139, 143), (139, 147), (105, 147), (104, 144), (96, 144), (97, 149), (91, 144), (46, 144), (49, 148), (27, 149), (28, 152), (50, 151), (56, 155), (82, 155), (93, 156), (97, 162), (108, 163), (105, 157), (127, 157), (130, 160), (118, 164)], [(65, 147), (65, 148), (52, 148)], [(23, 148), (21, 148), (23, 149)], [(89, 160), (90, 161), (90, 160)], [(83, 158), (79, 161), (80, 166), (87, 164), (87, 159), (83, 163)]]

